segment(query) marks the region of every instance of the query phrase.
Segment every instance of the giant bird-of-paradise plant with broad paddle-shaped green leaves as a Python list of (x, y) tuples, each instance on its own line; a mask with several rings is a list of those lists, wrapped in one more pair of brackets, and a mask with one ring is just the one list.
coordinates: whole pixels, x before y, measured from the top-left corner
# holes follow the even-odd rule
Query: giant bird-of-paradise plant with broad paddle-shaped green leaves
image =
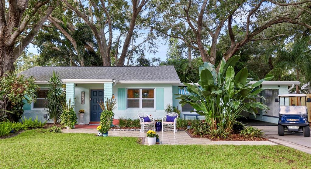
[(258, 94), (263, 90), (261, 83), (271, 80), (272, 75), (267, 75), (255, 83), (250, 83), (251, 78), (247, 78), (248, 70), (245, 67), (237, 74), (234, 73), (234, 65), (239, 60), (239, 56), (231, 57), (227, 62), (223, 58), (220, 62), (219, 72), (215, 66), (205, 62), (199, 69), (200, 80), (198, 87), (195, 83), (184, 83), (189, 94), (181, 95), (177, 99), (182, 105), (190, 104), (200, 115), (205, 116), (211, 130), (221, 127), (231, 131), (236, 118), (240, 113), (248, 111), (254, 115), (257, 109), (269, 109), (256, 98), (264, 97)]

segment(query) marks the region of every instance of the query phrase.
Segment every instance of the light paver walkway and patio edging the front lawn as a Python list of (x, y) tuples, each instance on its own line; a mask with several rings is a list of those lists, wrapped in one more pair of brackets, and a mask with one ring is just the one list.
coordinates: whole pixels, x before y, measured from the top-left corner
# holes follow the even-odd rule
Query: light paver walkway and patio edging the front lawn
[[(97, 134), (94, 128), (84, 129), (64, 129), (63, 133), (90, 133)], [(146, 132), (140, 133), (139, 131), (109, 131), (109, 136), (119, 137), (145, 137), (144, 144), (147, 145)], [(173, 131), (156, 132), (160, 137), (160, 144), (162, 145), (277, 145), (271, 141), (211, 141), (207, 138), (192, 138), (186, 131)]]

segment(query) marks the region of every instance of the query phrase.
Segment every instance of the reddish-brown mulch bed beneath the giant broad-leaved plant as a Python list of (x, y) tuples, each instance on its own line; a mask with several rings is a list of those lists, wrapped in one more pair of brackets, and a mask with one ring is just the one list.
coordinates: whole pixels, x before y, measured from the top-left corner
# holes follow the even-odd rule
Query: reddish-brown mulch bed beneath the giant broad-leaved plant
[(253, 137), (253, 139), (251, 139), (251, 138), (245, 137), (245, 136), (237, 134), (237, 133), (232, 133), (227, 138), (213, 138), (212, 139), (211, 135), (203, 135), (202, 137), (200, 135), (194, 135), (193, 130), (191, 130), (191, 129), (187, 130), (187, 132), (193, 137), (207, 138), (207, 139), (212, 140), (212, 141), (267, 141), (267, 140), (269, 140), (265, 137)]

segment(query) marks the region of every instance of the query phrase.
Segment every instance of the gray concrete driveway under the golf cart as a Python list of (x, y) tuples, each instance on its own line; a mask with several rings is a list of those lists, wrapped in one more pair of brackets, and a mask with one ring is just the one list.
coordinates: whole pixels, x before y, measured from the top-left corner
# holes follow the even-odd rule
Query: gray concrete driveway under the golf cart
[(254, 127), (262, 129), (262, 131), (264, 131), (265, 134), (269, 137), (273, 137), (279, 140), (287, 141), (311, 149), (311, 137), (304, 137), (304, 134), (302, 132), (293, 133), (285, 131), (284, 136), (279, 136), (277, 134), (277, 126), (254, 126)]

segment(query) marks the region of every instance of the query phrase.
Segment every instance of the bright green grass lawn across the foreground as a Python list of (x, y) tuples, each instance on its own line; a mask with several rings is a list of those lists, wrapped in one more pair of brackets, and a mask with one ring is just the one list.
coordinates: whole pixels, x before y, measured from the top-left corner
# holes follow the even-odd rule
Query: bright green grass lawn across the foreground
[(133, 137), (25, 131), (0, 140), (1, 168), (310, 168), (285, 146), (155, 145)]

